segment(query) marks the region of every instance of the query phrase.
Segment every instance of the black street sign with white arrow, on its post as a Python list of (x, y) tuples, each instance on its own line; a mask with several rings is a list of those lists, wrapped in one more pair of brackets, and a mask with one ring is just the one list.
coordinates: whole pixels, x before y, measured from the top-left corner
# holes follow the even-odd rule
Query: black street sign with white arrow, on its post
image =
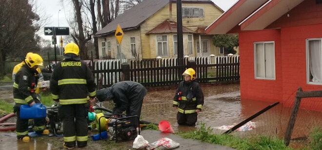
[(69, 27), (44, 27), (45, 36), (52, 36), (52, 44), (54, 45), (55, 50), (55, 64), (57, 64), (57, 56), (56, 56), (56, 44), (57, 38), (56, 36), (67, 36), (69, 35)]

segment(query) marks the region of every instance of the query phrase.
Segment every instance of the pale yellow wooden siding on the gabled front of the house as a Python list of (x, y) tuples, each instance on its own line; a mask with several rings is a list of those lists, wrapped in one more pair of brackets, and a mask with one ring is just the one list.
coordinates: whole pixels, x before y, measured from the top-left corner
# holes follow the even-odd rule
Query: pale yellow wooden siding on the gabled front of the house
[[(204, 9), (204, 18), (182, 18), (183, 26), (191, 29), (197, 30), (198, 27), (206, 27), (211, 24), (215, 19), (217, 19), (222, 12), (213, 4), (210, 3), (182, 3), (182, 7), (185, 6), (196, 6), (202, 7)], [(172, 20), (177, 20), (177, 10), (176, 4), (172, 3)], [(152, 15), (149, 19), (145, 20), (144, 23), (141, 24), (141, 47), (142, 47), (142, 57), (143, 58), (155, 58), (157, 56), (156, 50), (156, 35), (146, 35), (147, 32), (158, 26), (165, 19), (169, 19), (169, 4), (163, 7), (163, 9), (159, 10), (156, 14)], [(169, 39), (169, 55), (173, 56), (173, 47), (172, 47), (172, 34), (167, 34)], [(202, 35), (202, 37), (205, 35)], [(188, 51), (188, 42), (187, 42), (187, 34), (184, 34), (184, 47), (185, 51)], [(207, 38), (211, 38), (212, 36), (206, 36)], [(195, 36), (194, 36), (195, 38)], [(198, 38), (199, 39), (199, 38)], [(194, 49), (196, 49), (196, 38), (194, 39)], [(210, 49), (216, 51), (215, 47), (212, 44), (212, 39), (209, 42)], [(196, 51), (194, 52), (196, 56)], [(219, 53), (219, 52), (218, 52)], [(188, 52), (184, 53), (188, 54)]]

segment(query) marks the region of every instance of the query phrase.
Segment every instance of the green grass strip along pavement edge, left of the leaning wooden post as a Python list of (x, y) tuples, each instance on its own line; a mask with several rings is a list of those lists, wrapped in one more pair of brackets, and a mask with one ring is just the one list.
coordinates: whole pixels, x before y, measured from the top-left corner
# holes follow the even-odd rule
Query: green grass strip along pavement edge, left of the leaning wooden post
[(228, 146), (237, 150), (294, 150), (286, 147), (282, 140), (274, 137), (256, 135), (250, 138), (240, 138), (234, 135), (212, 134), (212, 129), (206, 127), (204, 123), (196, 131), (179, 132), (177, 134), (184, 138)]

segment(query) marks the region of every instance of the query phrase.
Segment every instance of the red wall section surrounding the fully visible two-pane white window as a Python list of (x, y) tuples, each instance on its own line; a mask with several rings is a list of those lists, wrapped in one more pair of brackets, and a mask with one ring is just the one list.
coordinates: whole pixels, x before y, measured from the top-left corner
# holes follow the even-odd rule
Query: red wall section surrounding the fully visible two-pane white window
[[(275, 74), (276, 80), (255, 79), (254, 42), (275, 41)], [(282, 99), (282, 59), (280, 30), (241, 32), (240, 74), (241, 98), (265, 101)]]

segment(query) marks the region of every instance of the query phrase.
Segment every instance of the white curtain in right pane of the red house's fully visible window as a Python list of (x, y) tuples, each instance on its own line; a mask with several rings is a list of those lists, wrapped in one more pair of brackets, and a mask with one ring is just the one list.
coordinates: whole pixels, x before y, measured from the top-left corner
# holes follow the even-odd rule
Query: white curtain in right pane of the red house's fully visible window
[(275, 77), (274, 43), (265, 43), (265, 77)]

